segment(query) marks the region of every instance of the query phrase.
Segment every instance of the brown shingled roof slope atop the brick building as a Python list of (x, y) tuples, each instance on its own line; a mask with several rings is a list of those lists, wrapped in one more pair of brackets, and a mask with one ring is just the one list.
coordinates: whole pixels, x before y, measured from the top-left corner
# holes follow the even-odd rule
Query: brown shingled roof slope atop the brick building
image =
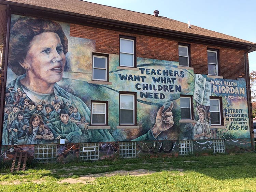
[(122, 21), (130, 24), (138, 24), (142, 26), (166, 29), (170, 31), (183, 32), (187, 34), (202, 35), (234, 42), (254, 44), (253, 46), (256, 46), (255, 43), (252, 43), (250, 41), (242, 40), (230, 35), (218, 33), (208, 29), (203, 29), (194, 25), (191, 25), (191, 28), (188, 28), (188, 24), (167, 17), (155, 17), (153, 14), (150, 15), (145, 13), (139, 13), (82, 0), (1, 0), (1, 2), (15, 3), (21, 6), (32, 5), (37, 8), (47, 8), (53, 11), (58, 10), (69, 12), (70, 14), (94, 16), (98, 18)]

